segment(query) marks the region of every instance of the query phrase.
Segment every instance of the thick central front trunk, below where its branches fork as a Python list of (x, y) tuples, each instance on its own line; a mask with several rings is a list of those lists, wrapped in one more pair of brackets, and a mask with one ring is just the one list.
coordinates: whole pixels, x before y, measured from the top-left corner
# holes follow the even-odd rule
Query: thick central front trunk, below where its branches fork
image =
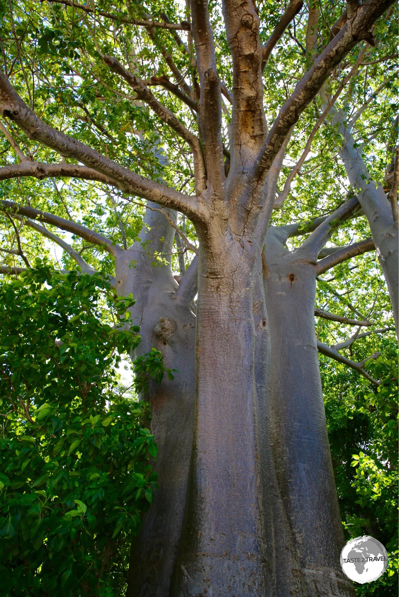
[[(199, 259), (197, 401), (182, 549), (173, 595), (275, 595), (263, 511), (254, 379), (254, 259), (238, 243)], [(222, 264), (222, 266), (220, 266)]]

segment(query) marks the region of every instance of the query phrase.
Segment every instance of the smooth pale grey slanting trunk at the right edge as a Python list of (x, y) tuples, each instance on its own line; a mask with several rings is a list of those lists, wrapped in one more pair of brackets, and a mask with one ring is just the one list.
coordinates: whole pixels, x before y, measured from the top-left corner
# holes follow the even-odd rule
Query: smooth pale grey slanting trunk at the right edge
[(348, 130), (345, 117), (334, 110), (333, 123), (338, 125), (344, 142), (340, 148), (340, 157), (345, 165), (346, 175), (351, 186), (356, 190), (358, 201), (369, 221), (378, 260), (385, 276), (395, 327), (399, 333), (399, 233), (394, 222), (391, 204), (381, 185), (373, 181), (361, 156), (361, 149), (355, 146), (355, 140)]

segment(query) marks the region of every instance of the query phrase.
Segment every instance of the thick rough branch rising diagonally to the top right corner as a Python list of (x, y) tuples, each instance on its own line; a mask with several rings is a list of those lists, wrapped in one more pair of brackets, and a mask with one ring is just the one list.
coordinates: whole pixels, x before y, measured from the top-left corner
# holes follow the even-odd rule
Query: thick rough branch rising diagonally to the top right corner
[(346, 54), (361, 39), (370, 38), (370, 29), (383, 12), (393, 4), (393, 0), (368, 0), (358, 7), (352, 19), (346, 21), (342, 29), (315, 59), (311, 69), (300, 79), (296, 88), (280, 110), (280, 114), (266, 137), (253, 169), (254, 180), (260, 183), (274, 160), (275, 155), (286, 139), (291, 126), (309, 105), (324, 81)]

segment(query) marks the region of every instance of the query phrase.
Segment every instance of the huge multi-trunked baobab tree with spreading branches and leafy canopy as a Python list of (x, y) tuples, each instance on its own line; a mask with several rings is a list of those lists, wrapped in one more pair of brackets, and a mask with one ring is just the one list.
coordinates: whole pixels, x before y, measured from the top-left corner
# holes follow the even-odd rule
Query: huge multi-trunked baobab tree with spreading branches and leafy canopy
[[(354, 595), (318, 354), (377, 386), (339, 352), (374, 305), (333, 288), (348, 317), (315, 297), (324, 273), (377, 250), (398, 323), (392, 4), (5, 11), (2, 272), (44, 238), (69, 267), (105, 270), (136, 299), (137, 350), (179, 370), (150, 389), (159, 490), (127, 595)], [(359, 329), (329, 346), (315, 315)]]

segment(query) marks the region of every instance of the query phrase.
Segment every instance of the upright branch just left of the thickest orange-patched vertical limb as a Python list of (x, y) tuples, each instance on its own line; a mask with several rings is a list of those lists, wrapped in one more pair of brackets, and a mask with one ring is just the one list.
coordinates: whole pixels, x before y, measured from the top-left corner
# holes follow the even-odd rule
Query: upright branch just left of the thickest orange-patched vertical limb
[(208, 187), (211, 193), (224, 199), (225, 171), (222, 144), (222, 101), (220, 80), (216, 70), (213, 34), (207, 0), (191, 0), (192, 35), (199, 85), (199, 125), (204, 140)]

